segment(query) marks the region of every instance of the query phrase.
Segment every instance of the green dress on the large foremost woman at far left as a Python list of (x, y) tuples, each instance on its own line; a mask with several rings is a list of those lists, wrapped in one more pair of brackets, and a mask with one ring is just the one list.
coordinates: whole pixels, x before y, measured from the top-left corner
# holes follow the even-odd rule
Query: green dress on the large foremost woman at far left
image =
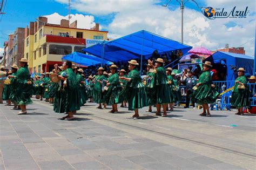
[(16, 74), (14, 101), (17, 105), (28, 105), (32, 103), (30, 97), (33, 93), (33, 85), (28, 84), (30, 80), (28, 65), (18, 69)]

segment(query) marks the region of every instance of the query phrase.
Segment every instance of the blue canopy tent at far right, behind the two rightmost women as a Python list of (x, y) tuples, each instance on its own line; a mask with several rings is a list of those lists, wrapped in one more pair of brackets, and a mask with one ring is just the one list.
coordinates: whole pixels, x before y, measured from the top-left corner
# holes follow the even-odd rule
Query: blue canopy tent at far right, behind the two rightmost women
[[(213, 66), (217, 63), (226, 64), (226, 80), (233, 81), (235, 79), (234, 71), (231, 69), (231, 66), (243, 67), (246, 70), (246, 73), (253, 75), (253, 62), (254, 58), (246, 55), (241, 55), (231, 52), (222, 52), (217, 51), (213, 53), (212, 56), (207, 57), (203, 63), (209, 61), (213, 63)], [(223, 64), (224, 64), (223, 63)]]

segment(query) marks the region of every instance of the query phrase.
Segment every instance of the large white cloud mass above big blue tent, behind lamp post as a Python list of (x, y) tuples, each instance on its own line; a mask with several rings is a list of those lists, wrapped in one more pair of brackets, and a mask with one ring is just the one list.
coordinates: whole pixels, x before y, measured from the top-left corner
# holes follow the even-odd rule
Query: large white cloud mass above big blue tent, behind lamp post
[[(58, 0), (60, 1), (60, 0)], [(63, 0), (62, 0), (63, 1)], [(104, 28), (109, 30), (110, 38), (118, 38), (139, 30), (147, 30), (158, 35), (180, 42), (180, 9), (169, 10), (156, 1), (72, 1), (72, 8), (92, 15), (107, 15), (114, 13), (113, 21)], [(207, 0), (207, 6), (231, 10), (233, 6), (244, 10), (248, 5), (250, 13), (255, 12), (254, 1)], [(199, 4), (200, 6), (200, 4)], [(234, 26), (225, 26), (229, 22)], [(220, 49), (226, 43), (230, 47), (245, 47), (246, 54), (253, 56), (254, 16), (247, 18), (207, 19), (199, 10), (185, 8), (184, 11), (184, 43), (191, 46), (204, 46), (210, 50)], [(246, 44), (244, 44), (246, 43)], [(243, 45), (244, 44), (244, 45)]]

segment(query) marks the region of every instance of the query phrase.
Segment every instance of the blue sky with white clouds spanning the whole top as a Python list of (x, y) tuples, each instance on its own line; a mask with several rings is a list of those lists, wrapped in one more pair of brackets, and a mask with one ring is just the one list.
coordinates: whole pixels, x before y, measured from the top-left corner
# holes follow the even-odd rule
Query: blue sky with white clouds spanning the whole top
[[(6, 1), (6, 0), (5, 0)], [(30, 21), (43, 15), (51, 15), (57, 12), (60, 16), (68, 15), (67, 0), (8, 0), (0, 22), (0, 48), (8, 39), (8, 34), (17, 27), (25, 27)], [(103, 30), (109, 31), (109, 36), (117, 38), (142, 29), (157, 33), (174, 40), (180, 40), (180, 9), (179, 4), (172, 0), (168, 8), (161, 4), (162, 0), (136, 0), (142, 5), (134, 5), (135, 0), (126, 2), (127, 8), (122, 5), (123, 0), (82, 1), (71, 0), (72, 14), (80, 13), (93, 16), (93, 22), (100, 22)], [(246, 2), (245, 2), (246, 1)], [(255, 4), (251, 0), (196, 0), (199, 6), (212, 6), (213, 8), (232, 9), (237, 6), (244, 9), (245, 4), (250, 7), (250, 15), (255, 16)], [(102, 2), (102, 3), (99, 3)], [(153, 2), (153, 3), (152, 3)], [(96, 4), (96, 8), (94, 5)], [(90, 6), (91, 5), (91, 6)], [(110, 5), (110, 6), (107, 6)], [(95, 8), (95, 10), (91, 10)], [(109, 11), (101, 13), (102, 9)], [(114, 12), (111, 12), (113, 9)], [(122, 10), (118, 10), (122, 9)], [(90, 11), (86, 12), (86, 11)], [(250, 22), (251, 21), (251, 22)], [(184, 12), (184, 43), (193, 46), (205, 46), (210, 50), (224, 47), (225, 43), (230, 46), (239, 46), (254, 37), (252, 24), (255, 17), (247, 19), (215, 19), (210, 21), (205, 18), (197, 5), (187, 2)], [(86, 23), (85, 23), (86, 25)], [(245, 31), (247, 30), (247, 31)], [(225, 32), (225, 33), (224, 33)], [(237, 38), (240, 36), (239, 38)], [(245, 44), (248, 55), (254, 53), (254, 44)], [(250, 45), (251, 44), (251, 45)]]

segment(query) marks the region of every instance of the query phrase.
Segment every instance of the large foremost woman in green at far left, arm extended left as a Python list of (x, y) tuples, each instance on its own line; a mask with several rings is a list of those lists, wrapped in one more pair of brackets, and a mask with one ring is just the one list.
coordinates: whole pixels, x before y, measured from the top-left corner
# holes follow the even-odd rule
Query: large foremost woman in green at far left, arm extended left
[(26, 114), (26, 105), (31, 104), (33, 85), (31, 82), (29, 69), (28, 69), (28, 59), (22, 58), (19, 60), (21, 67), (18, 69), (16, 76), (8, 76), (8, 78), (16, 79), (14, 100), (18, 106), (21, 106), (21, 112), (18, 114)]

